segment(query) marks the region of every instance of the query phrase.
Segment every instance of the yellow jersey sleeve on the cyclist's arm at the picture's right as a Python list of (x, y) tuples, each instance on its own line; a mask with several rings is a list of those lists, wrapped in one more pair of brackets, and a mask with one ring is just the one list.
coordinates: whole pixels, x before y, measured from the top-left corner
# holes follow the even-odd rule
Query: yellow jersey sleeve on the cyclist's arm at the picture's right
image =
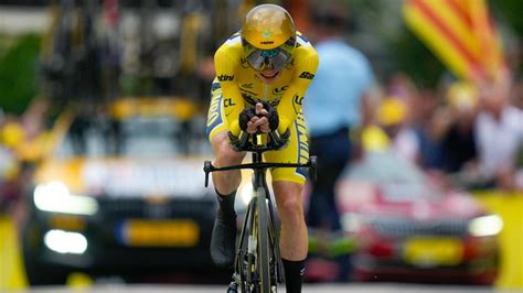
[(289, 89), (281, 97), (278, 105), (279, 126), (278, 132), (285, 133), (296, 116), (301, 111), (305, 94), (318, 68), (318, 53), (312, 48), (298, 47), (295, 54), (296, 74)]

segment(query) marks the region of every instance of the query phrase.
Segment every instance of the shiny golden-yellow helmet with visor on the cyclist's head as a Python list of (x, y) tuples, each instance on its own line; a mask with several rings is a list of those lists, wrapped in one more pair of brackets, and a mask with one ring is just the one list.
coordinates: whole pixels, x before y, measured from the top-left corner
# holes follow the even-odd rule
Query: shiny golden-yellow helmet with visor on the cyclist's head
[[(275, 4), (253, 8), (242, 26), (242, 44), (250, 66), (285, 66), (296, 47), (296, 28), (289, 12)], [(253, 54), (254, 53), (254, 54)]]

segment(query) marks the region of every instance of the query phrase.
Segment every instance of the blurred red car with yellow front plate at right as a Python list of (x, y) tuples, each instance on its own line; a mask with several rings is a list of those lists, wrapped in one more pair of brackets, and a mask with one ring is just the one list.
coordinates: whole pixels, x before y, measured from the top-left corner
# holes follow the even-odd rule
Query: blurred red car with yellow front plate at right
[(344, 232), (357, 243), (354, 281), (495, 281), (501, 218), (392, 152), (353, 164), (337, 196)]

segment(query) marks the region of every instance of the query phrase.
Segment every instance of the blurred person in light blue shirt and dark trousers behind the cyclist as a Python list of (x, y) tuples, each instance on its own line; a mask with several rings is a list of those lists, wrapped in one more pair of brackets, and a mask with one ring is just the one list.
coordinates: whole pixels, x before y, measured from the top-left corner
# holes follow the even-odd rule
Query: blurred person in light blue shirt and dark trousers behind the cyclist
[[(374, 83), (367, 58), (343, 40), (348, 12), (335, 2), (318, 2), (310, 32), (320, 65), (305, 99), (310, 130), (310, 153), (318, 155), (318, 178), (312, 185), (308, 226), (312, 230), (340, 231), (334, 184), (354, 150), (349, 132), (359, 128), (361, 113)], [(342, 267), (344, 268), (344, 267)], [(346, 270), (340, 279), (348, 278)]]

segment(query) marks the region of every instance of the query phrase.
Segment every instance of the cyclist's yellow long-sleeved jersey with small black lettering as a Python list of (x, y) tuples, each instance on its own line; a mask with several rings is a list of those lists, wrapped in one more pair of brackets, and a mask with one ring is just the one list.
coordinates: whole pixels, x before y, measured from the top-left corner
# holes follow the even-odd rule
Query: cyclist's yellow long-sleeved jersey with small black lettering
[(239, 33), (232, 35), (214, 55), (216, 78), (222, 88), (223, 107), (228, 129), (239, 134), (238, 116), (247, 105), (268, 101), (279, 116), (278, 132), (284, 133), (301, 112), (301, 104), (318, 68), (318, 54), (307, 39), (298, 33), (292, 59), (270, 85), (257, 76), (244, 57)]

